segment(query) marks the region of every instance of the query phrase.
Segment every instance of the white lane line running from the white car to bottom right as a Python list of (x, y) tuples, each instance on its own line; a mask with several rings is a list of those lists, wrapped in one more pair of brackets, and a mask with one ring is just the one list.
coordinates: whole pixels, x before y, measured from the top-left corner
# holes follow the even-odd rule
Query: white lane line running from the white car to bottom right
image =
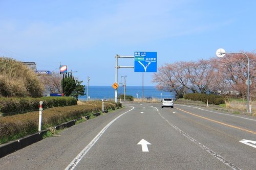
[(185, 132), (183, 132), (181, 129), (179, 129), (177, 126), (173, 125), (172, 123), (170, 123), (167, 119), (165, 119), (165, 117), (163, 117), (161, 115), (161, 113), (158, 111), (158, 114), (170, 125), (172, 126), (174, 129), (176, 129), (178, 132), (180, 132), (183, 136), (185, 136), (186, 138), (188, 138), (190, 141), (193, 141), (194, 143), (196, 143), (200, 148), (202, 148), (203, 150), (205, 150), (206, 152), (208, 152), (209, 154), (211, 154), (212, 156), (216, 157), (217, 159), (219, 159), (221, 162), (225, 163), (227, 166), (229, 166), (231, 169), (240, 169), (239, 167), (237, 167), (236, 165), (230, 163), (228, 160), (226, 160), (225, 158), (223, 158), (222, 156), (218, 155), (216, 152), (210, 150), (209, 148), (205, 147), (205, 145), (201, 144), (200, 142), (198, 142), (196, 139), (190, 137), (188, 134), (186, 134)]

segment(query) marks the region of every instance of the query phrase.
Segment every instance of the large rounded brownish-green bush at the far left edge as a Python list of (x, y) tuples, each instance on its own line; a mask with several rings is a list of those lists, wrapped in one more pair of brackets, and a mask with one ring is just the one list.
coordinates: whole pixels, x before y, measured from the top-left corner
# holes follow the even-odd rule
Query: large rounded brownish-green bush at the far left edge
[(35, 72), (14, 59), (0, 57), (0, 75), (0, 96), (38, 98), (44, 91)]

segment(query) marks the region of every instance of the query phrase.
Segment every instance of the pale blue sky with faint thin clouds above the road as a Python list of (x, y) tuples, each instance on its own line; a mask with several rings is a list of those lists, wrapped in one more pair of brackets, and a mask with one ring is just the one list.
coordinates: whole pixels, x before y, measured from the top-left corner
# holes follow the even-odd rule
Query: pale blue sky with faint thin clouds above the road
[[(84, 84), (89, 76), (90, 85), (112, 85), (116, 54), (157, 52), (161, 66), (216, 57), (220, 47), (255, 52), (255, 7), (251, 0), (0, 0), (0, 56), (36, 62), (37, 70), (59, 71), (61, 63)], [(155, 85), (152, 75), (144, 73), (145, 86)], [(142, 85), (132, 68), (118, 69), (121, 76)]]

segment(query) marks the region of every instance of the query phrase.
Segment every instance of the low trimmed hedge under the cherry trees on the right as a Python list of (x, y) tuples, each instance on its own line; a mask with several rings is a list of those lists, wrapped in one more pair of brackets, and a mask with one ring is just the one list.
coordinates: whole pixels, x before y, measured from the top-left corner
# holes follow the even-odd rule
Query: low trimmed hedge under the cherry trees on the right
[(202, 93), (189, 93), (184, 95), (184, 99), (192, 101), (202, 101), (208, 104), (219, 105), (225, 103), (225, 99), (220, 95), (202, 94)]

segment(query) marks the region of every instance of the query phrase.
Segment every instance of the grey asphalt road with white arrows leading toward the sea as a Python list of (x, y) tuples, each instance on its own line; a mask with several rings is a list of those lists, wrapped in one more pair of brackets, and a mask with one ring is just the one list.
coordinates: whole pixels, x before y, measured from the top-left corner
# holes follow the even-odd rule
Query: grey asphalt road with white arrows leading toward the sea
[(256, 169), (256, 117), (126, 104), (1, 158), (0, 169)]

